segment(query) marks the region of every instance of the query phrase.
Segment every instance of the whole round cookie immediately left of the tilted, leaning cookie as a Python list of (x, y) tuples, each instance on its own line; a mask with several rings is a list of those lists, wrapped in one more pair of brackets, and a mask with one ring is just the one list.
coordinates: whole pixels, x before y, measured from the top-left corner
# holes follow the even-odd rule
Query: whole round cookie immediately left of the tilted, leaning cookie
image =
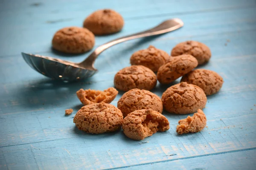
[(152, 70), (143, 65), (131, 65), (116, 73), (114, 85), (122, 91), (133, 88), (151, 90), (157, 85), (157, 77)]

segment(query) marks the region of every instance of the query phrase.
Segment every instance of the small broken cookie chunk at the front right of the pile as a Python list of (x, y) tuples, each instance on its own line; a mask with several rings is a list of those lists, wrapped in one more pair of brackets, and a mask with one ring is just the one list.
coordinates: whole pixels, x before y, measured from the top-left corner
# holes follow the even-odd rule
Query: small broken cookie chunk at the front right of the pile
[(206, 116), (201, 109), (198, 109), (197, 113), (194, 113), (192, 117), (188, 116), (186, 119), (179, 120), (176, 132), (184, 133), (196, 133), (200, 132), (206, 126)]

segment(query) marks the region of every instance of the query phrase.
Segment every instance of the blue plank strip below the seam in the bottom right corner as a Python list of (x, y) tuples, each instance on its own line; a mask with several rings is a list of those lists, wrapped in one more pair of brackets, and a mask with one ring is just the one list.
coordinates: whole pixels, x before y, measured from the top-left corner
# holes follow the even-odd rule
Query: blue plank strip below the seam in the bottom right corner
[[(123, 168), (124, 170), (156, 170), (172, 167), (180, 170), (254, 170), (256, 163), (253, 157), (256, 156), (255, 150), (247, 150), (233, 153), (221, 153), (204, 157), (194, 157), (189, 160), (180, 159), (175, 161), (165, 161), (155, 164), (143, 164)], [(204, 159), (204, 161), (202, 161)], [(238, 164), (238, 162), (240, 164)]]

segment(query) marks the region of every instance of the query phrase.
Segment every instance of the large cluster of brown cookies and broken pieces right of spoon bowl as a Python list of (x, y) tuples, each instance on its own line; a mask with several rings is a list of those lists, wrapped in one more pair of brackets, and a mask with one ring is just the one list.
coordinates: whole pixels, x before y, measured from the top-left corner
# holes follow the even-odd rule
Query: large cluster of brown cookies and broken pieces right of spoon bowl
[[(122, 127), (127, 137), (142, 140), (158, 131), (169, 130), (169, 121), (162, 115), (164, 109), (175, 114), (194, 113), (178, 122), (178, 134), (199, 132), (207, 122), (202, 111), (207, 96), (217, 93), (223, 84), (216, 72), (195, 69), (210, 57), (210, 49), (196, 41), (177, 44), (171, 56), (151, 45), (137, 51), (130, 58), (131, 66), (121, 69), (114, 77), (115, 87), (125, 91), (117, 108), (109, 104), (118, 94), (115, 88), (80, 89), (77, 96), (85, 106), (76, 113), (73, 122), (87, 133), (111, 132)], [(169, 84), (179, 77), (182, 77), (180, 83), (167, 88), (161, 99), (150, 92), (157, 80)]]

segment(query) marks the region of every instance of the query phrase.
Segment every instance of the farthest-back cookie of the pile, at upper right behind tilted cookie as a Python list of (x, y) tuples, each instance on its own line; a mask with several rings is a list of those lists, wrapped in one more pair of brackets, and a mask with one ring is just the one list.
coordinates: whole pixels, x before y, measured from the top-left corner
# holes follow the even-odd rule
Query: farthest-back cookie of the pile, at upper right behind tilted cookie
[(211, 58), (211, 50), (207, 45), (197, 41), (185, 41), (177, 44), (171, 52), (171, 56), (190, 54), (198, 60), (198, 65), (204, 64)]

